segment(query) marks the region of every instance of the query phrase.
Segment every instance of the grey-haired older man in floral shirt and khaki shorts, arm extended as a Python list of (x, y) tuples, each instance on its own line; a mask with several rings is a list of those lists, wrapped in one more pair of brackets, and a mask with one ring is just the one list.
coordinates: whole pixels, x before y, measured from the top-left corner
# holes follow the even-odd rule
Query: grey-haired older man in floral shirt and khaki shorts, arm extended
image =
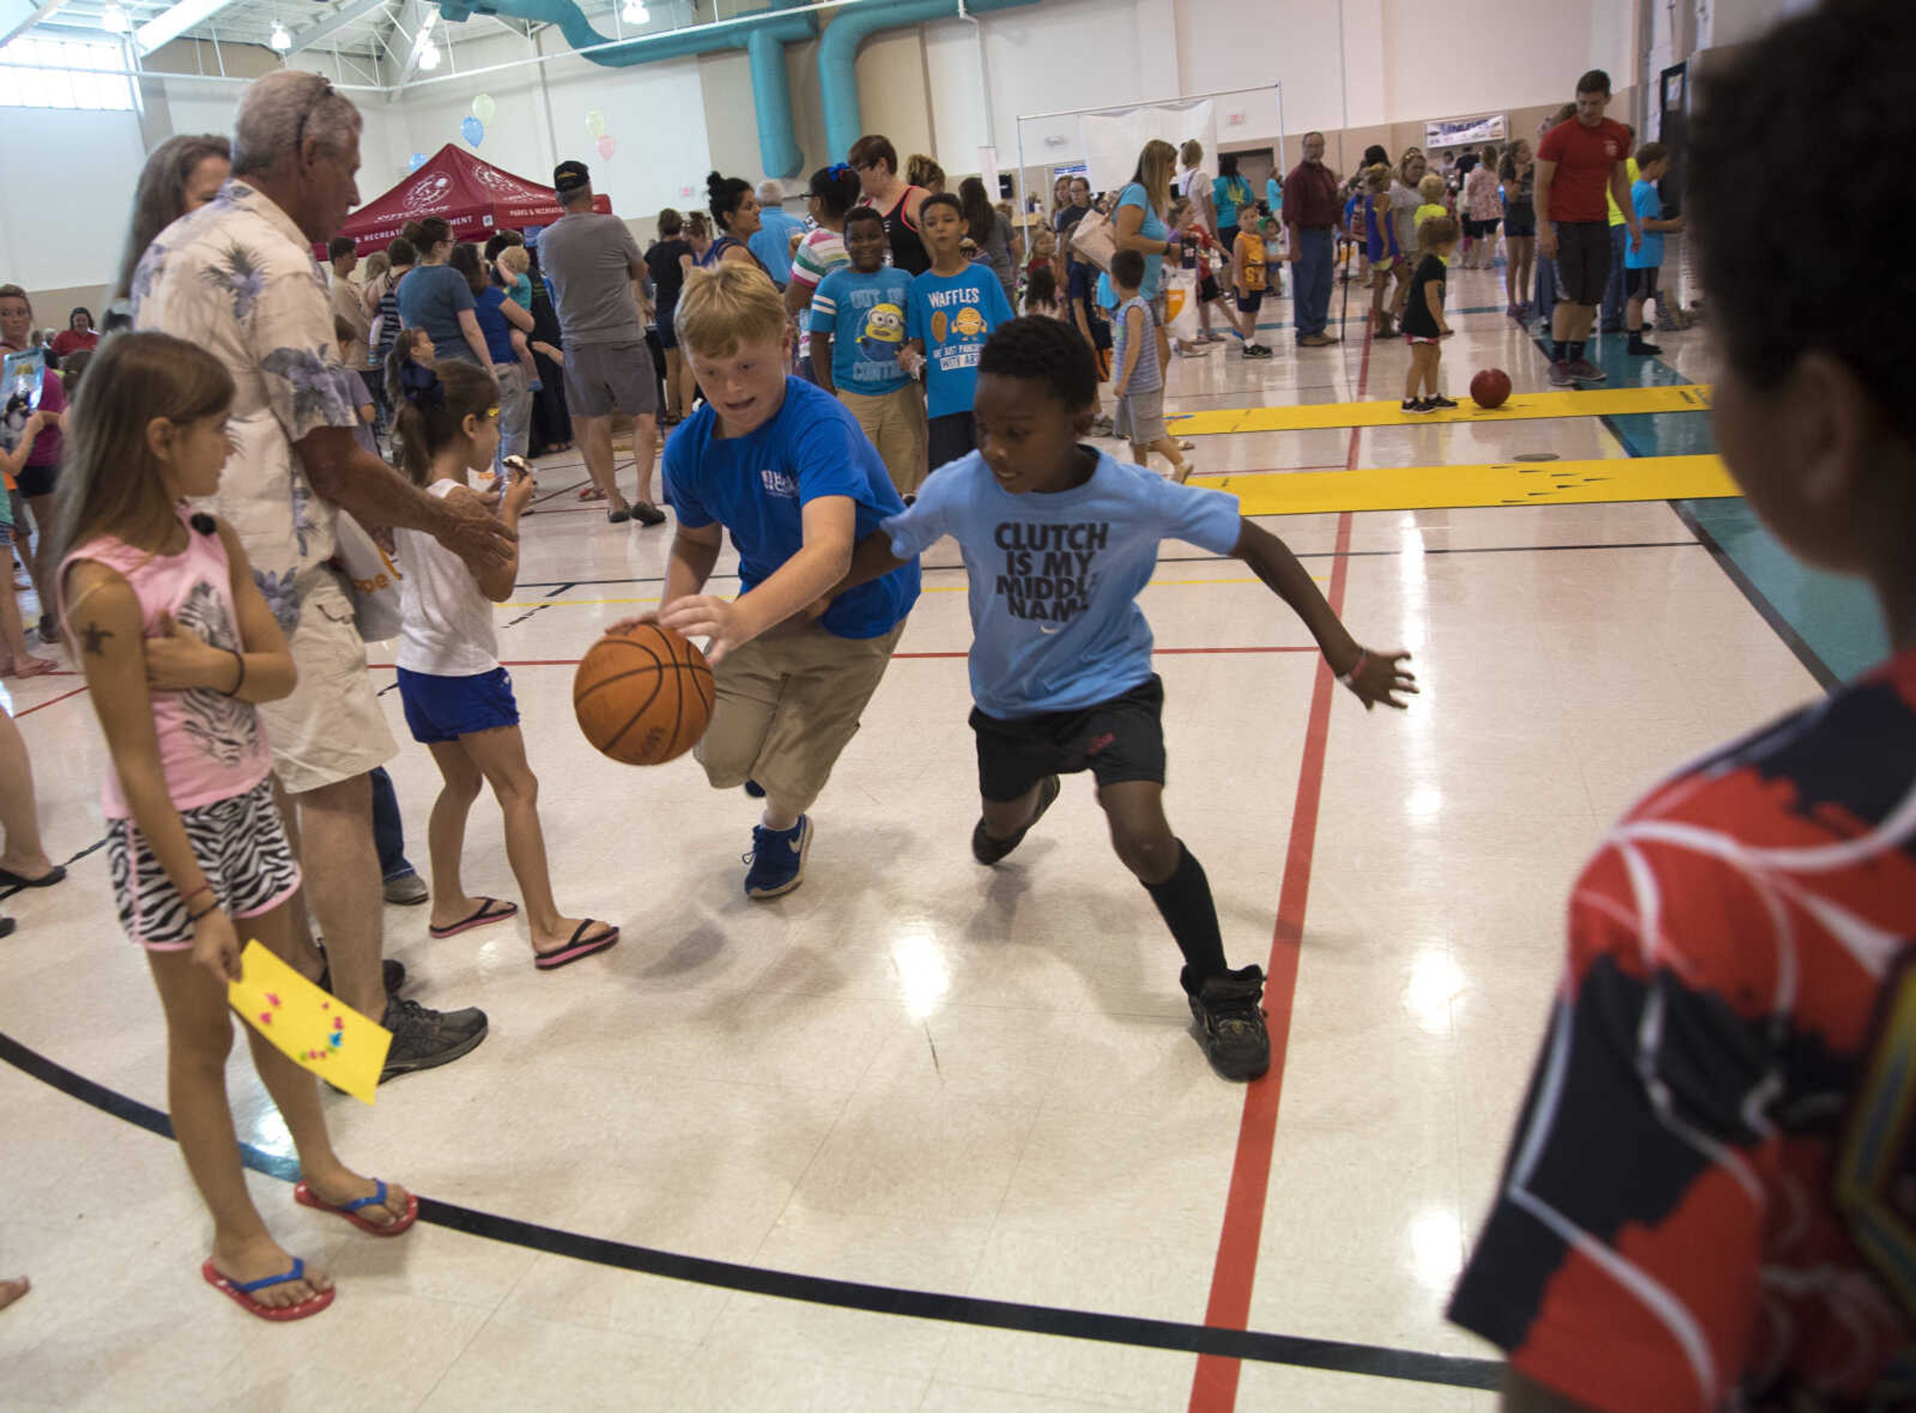
[[(253, 82), (234, 121), (232, 180), (148, 247), (134, 324), (211, 350), (234, 375), (234, 452), (215, 509), (232, 523), (293, 647), (299, 687), (261, 708), (274, 774), (297, 812), (305, 890), (331, 986), (393, 1030), (387, 1078), (445, 1065), (485, 1040), (475, 1009), (397, 996), (381, 967), (379, 858), (368, 772), (395, 752), (345, 582), (331, 567), (339, 511), (433, 534), (475, 569), (512, 534), (471, 500), (435, 500), (353, 440), (326, 278), (312, 245), (358, 203), (358, 111), (320, 75)], [(308, 955), (308, 969), (320, 957)]]

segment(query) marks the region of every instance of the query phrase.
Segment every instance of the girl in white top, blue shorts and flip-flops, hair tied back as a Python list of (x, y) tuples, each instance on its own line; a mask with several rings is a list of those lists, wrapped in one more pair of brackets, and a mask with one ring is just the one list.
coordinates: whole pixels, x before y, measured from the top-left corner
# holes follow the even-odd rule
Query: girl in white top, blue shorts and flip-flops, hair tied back
[[(445, 362), (437, 371), (397, 352), (391, 402), (406, 475), (441, 498), (473, 496), (469, 475), (490, 471), (498, 450), (498, 383), (485, 370)], [(533, 475), (512, 458), (512, 484), (498, 513), (508, 528), (533, 500)], [(466, 816), (481, 783), (506, 816), (512, 862), (540, 971), (563, 967), (619, 940), (619, 929), (592, 917), (565, 917), (552, 900), (546, 835), (538, 827), (538, 779), (525, 760), (512, 676), (498, 664), (492, 605), (512, 597), (519, 559), (475, 576), (466, 563), (420, 530), (395, 530), (400, 617), (399, 697), (406, 726), (427, 745), (445, 787), (427, 831), (433, 860), (435, 938), (454, 936), (519, 911), (515, 904), (469, 896), (460, 877)]]

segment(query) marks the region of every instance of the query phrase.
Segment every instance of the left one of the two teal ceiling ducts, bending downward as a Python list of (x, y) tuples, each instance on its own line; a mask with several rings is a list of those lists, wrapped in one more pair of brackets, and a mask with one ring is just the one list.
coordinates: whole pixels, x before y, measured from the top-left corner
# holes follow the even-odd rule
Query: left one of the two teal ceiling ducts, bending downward
[[(818, 33), (818, 19), (801, 10), (805, 0), (772, 0), (757, 15), (724, 27), (659, 31), (630, 40), (600, 34), (577, 0), (443, 0), (439, 13), (450, 21), (471, 15), (508, 15), (554, 25), (581, 57), (609, 69), (661, 59), (688, 59), (743, 48), (751, 63), (751, 100), (759, 117), (759, 161), (766, 176), (797, 176), (805, 168), (791, 121), (791, 84), (786, 78), (786, 44)], [(855, 100), (856, 103), (856, 100)]]

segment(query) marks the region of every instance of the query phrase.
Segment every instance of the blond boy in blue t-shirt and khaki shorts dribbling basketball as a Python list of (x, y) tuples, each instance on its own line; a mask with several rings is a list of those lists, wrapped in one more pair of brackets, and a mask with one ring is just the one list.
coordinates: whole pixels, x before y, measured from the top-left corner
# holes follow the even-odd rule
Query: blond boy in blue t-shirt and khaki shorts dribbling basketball
[[(851, 410), (786, 375), (786, 304), (763, 270), (694, 270), (676, 325), (705, 404), (665, 444), (678, 532), (657, 620), (711, 639), (717, 701), (696, 754), (715, 789), (763, 791), (745, 896), (778, 898), (805, 877), (807, 810), (885, 676), (918, 601), (918, 561), (807, 613), (904, 502)], [(726, 530), (736, 599), (703, 594)]]

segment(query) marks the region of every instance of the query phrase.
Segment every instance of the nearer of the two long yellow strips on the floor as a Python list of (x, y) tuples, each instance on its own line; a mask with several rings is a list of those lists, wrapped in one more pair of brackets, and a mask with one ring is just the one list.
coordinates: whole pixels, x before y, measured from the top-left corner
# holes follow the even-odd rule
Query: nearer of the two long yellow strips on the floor
[(1615, 456), (1594, 461), (1410, 465), (1372, 471), (1192, 477), (1230, 490), (1245, 515), (1456, 509), (1466, 505), (1579, 505), (1623, 500), (1740, 496), (1717, 456)]

